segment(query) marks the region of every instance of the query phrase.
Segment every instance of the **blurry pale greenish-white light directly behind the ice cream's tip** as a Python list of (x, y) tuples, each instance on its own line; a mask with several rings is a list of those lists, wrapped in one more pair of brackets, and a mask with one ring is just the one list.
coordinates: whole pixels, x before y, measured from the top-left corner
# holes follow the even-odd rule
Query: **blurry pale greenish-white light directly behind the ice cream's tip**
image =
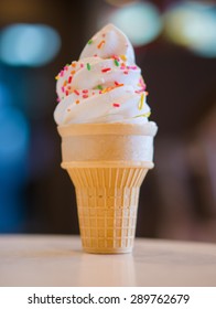
[(119, 8), (109, 21), (119, 26), (134, 46), (152, 42), (162, 30), (160, 12), (150, 2), (136, 2)]

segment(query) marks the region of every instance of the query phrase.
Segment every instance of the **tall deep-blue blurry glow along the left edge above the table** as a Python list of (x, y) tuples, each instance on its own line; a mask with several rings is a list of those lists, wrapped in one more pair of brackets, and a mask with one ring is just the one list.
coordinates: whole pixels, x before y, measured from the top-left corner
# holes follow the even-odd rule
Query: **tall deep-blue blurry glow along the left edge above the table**
[(0, 233), (20, 232), (24, 226), (21, 194), (28, 175), (30, 128), (12, 106), (9, 88), (0, 83)]

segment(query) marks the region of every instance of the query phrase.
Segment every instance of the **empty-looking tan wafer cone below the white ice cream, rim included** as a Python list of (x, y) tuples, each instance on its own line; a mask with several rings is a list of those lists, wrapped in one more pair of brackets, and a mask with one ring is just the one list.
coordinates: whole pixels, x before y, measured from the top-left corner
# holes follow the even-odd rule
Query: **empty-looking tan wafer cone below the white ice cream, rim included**
[(60, 126), (62, 167), (76, 190), (83, 247), (132, 251), (140, 185), (153, 168), (154, 122)]

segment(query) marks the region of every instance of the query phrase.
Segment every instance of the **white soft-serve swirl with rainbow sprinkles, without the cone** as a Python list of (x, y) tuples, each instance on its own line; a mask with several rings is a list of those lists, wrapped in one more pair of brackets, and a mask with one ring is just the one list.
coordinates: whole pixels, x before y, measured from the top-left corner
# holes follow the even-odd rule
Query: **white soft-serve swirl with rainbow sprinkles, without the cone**
[(133, 47), (112, 24), (96, 33), (79, 60), (65, 65), (56, 79), (57, 125), (148, 121), (148, 93)]

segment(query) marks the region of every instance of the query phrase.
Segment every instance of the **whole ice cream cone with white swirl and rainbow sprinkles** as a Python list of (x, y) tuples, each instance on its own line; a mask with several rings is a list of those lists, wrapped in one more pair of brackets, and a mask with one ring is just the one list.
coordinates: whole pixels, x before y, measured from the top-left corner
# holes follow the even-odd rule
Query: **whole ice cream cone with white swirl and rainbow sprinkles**
[(61, 166), (75, 185), (83, 247), (131, 252), (139, 190), (154, 166), (158, 129), (148, 120), (145, 84), (132, 45), (108, 24), (56, 79)]

